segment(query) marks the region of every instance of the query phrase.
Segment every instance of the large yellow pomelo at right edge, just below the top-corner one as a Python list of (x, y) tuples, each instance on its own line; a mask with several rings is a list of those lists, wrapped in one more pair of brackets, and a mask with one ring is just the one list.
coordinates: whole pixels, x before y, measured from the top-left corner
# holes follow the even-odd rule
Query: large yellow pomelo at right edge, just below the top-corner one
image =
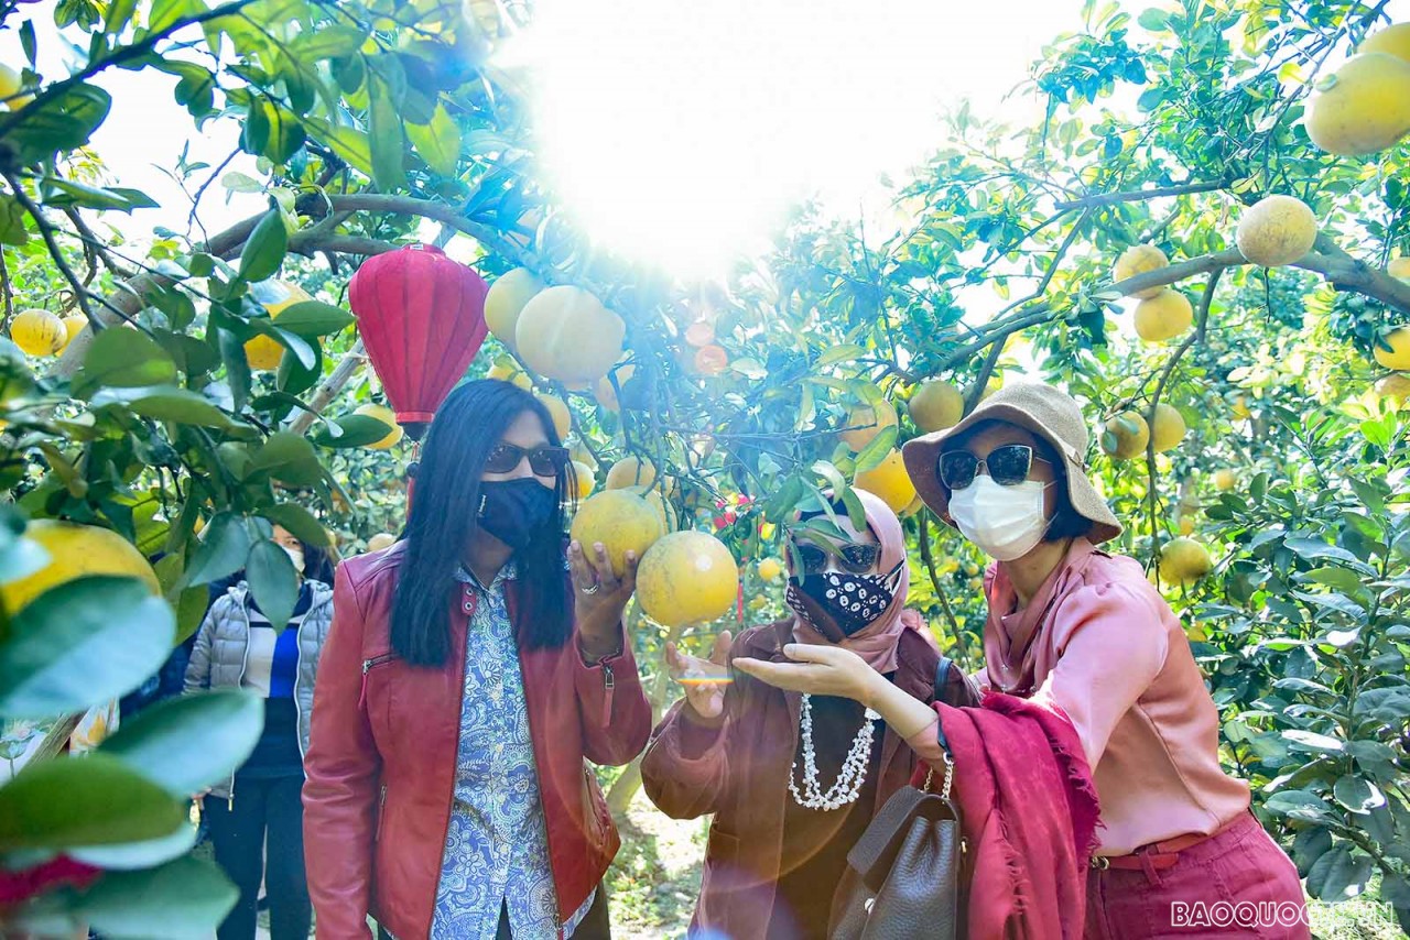
[(1328, 154), (1379, 154), (1410, 131), (1410, 62), (1363, 52), (1317, 82), (1303, 116), (1307, 137)]

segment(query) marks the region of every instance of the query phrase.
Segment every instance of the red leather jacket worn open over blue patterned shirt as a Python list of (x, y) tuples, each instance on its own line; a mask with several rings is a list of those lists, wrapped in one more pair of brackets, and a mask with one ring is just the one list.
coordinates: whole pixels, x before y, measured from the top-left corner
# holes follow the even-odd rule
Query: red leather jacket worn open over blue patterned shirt
[[(443, 668), (405, 664), (389, 640), (402, 555), (398, 544), (344, 562), (333, 590), (303, 786), (320, 939), (371, 937), (368, 913), (399, 940), (431, 929), (475, 596), (465, 586), (458, 598)], [(512, 589), (508, 599), (517, 623)], [(651, 733), (632, 647), (622, 650), (592, 667), (575, 640), (519, 654), (560, 922), (587, 901), (620, 847), (584, 758), (626, 764)]]

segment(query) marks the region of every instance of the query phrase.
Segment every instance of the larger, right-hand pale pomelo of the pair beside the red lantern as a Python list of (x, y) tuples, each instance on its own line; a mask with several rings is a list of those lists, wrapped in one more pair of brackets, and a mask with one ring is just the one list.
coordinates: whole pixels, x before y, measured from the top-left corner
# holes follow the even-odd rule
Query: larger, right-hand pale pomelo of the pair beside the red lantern
[(568, 385), (592, 383), (622, 357), (626, 324), (581, 287), (540, 290), (519, 314), (515, 342), (525, 365)]

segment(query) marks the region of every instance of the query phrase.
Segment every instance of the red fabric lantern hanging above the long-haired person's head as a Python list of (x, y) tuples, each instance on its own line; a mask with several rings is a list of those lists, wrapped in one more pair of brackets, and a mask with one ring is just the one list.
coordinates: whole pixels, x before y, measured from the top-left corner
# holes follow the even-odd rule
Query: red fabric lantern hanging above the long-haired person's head
[(479, 352), (489, 286), (433, 245), (407, 245), (362, 262), (348, 285), (362, 345), (396, 423), (419, 441)]

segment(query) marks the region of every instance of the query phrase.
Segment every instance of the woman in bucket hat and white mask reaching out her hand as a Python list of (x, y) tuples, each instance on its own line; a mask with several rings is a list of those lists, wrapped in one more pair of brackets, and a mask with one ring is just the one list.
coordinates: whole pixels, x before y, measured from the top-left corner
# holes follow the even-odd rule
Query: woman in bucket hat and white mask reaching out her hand
[[(1072, 397), (1025, 383), (904, 451), (926, 506), (995, 559), (976, 679), (1067, 717), (1093, 768), (1084, 936), (1308, 937), (1296, 868), (1220, 767), (1218, 712), (1179, 619), (1138, 562), (1098, 548), (1121, 524), (1086, 476), (1087, 440)], [(949, 706), (895, 695), (846, 650), (792, 658), (735, 664), (866, 702), (940, 765)]]

